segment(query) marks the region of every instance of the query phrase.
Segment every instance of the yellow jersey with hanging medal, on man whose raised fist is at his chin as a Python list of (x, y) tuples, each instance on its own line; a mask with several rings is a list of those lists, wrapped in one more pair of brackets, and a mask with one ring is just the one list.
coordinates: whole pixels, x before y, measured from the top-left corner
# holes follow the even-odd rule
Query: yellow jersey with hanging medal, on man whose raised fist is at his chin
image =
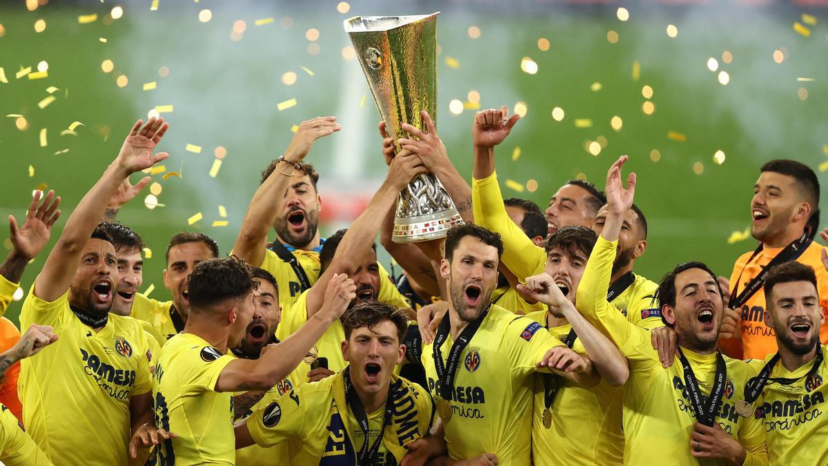
[[(527, 318), (546, 326), (546, 311), (527, 314)], [(549, 329), (552, 337), (563, 342), (572, 326)], [(586, 355), (580, 338), (572, 350)], [(532, 462), (561, 466), (584, 464), (622, 464), (623, 432), (621, 405), (623, 387), (609, 386), (602, 380), (597, 386), (581, 388), (566, 379), (558, 389), (550, 408), (551, 426), (543, 425), (543, 377), (535, 377), (532, 401)]]

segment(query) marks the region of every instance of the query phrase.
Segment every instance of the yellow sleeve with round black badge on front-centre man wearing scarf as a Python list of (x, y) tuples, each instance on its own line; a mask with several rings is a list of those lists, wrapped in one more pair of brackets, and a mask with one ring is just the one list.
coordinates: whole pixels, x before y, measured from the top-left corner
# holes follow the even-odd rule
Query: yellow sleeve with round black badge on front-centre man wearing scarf
[(248, 417), (248, 430), (256, 444), (272, 447), (286, 439), (304, 437), (308, 399), (301, 394), (300, 387), (296, 386)]

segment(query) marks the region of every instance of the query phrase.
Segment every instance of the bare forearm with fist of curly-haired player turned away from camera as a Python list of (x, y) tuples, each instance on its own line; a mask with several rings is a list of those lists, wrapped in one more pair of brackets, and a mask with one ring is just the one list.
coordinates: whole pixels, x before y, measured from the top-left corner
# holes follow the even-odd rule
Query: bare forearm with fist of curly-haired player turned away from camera
[(299, 366), (310, 347), (348, 308), (356, 297), (355, 291), (354, 280), (344, 274), (335, 274), (327, 282), (325, 301), (319, 312), (284, 341), (264, 347), (257, 360), (235, 359), (229, 362), (216, 381), (215, 391), (269, 390)]

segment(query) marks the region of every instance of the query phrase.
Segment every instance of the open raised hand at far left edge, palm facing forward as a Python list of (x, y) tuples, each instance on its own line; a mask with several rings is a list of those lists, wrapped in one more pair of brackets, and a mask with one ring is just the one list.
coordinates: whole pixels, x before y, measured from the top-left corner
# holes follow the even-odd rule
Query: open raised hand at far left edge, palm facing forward
[(38, 206), (42, 194), (43, 192), (36, 191), (35, 196), (31, 198), (23, 226), (17, 226), (14, 216), (8, 216), (9, 239), (12, 241), (14, 254), (26, 261), (34, 259), (49, 242), (51, 228), (60, 217), (60, 211), (57, 210), (60, 206), (60, 197), (55, 197), (54, 191), (47, 192), (43, 203)]

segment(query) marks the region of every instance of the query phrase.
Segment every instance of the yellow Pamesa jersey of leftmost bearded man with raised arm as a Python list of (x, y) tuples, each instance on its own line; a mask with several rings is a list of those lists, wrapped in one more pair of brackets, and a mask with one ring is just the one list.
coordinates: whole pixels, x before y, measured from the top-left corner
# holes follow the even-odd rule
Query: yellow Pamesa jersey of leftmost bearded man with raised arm
[(51, 325), (60, 335), (21, 362), (23, 423), (56, 464), (126, 464), (129, 400), (151, 388), (146, 333), (134, 318), (115, 314), (95, 333), (68, 299), (67, 291), (48, 303), (30, 291), (23, 303), (22, 328)]

